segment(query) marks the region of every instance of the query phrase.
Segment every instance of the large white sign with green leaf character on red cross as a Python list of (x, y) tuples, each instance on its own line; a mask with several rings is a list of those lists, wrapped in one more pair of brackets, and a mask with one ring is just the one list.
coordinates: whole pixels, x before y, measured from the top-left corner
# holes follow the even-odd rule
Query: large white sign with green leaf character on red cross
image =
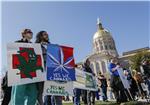
[(8, 86), (44, 81), (43, 56), (40, 44), (7, 44)]

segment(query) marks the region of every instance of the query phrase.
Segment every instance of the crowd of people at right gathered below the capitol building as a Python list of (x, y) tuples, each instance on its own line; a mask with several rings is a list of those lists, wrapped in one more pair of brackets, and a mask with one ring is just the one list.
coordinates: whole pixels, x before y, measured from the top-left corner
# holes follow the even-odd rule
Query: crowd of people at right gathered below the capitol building
[[(83, 68), (95, 76), (91, 69), (89, 69), (89, 60), (85, 62)], [(88, 65), (87, 65), (88, 64)], [(111, 59), (109, 64), (110, 78), (106, 78), (102, 73), (96, 77), (98, 91), (89, 91), (82, 89), (74, 89), (74, 105), (80, 105), (80, 97), (84, 105), (95, 105), (95, 100), (108, 102), (109, 100), (116, 100), (118, 104), (137, 101), (138, 99), (150, 99), (150, 63), (144, 61), (141, 65), (144, 69), (143, 74), (138, 71), (131, 72), (130, 70), (122, 68), (117, 59)], [(124, 76), (128, 81), (130, 88), (125, 88), (119, 76), (118, 70), (123, 70)], [(108, 94), (109, 93), (109, 94)], [(85, 95), (86, 94), (86, 95)]]

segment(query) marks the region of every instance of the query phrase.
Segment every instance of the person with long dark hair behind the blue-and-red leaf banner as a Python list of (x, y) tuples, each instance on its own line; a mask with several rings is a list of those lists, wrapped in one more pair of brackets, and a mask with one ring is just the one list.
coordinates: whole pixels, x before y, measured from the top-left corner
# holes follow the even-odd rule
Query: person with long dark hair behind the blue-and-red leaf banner
[[(44, 66), (46, 67), (46, 52), (47, 45), (50, 44), (48, 33), (46, 31), (40, 31), (37, 34), (36, 43), (41, 43), (43, 58), (44, 58)], [(40, 105), (43, 105), (42, 93), (43, 93), (43, 82), (37, 83), (38, 87), (38, 102)], [(44, 105), (62, 105), (62, 97), (61, 96), (51, 96), (48, 95), (44, 99)]]

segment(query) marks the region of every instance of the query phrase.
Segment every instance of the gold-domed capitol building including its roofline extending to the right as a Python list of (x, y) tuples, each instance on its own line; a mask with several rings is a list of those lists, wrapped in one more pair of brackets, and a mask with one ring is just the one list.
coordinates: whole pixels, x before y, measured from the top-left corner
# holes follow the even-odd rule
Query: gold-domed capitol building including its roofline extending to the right
[[(93, 35), (93, 52), (85, 59), (90, 60), (90, 67), (96, 75), (98, 75), (100, 72), (104, 75), (107, 75), (109, 73), (108, 64), (111, 58), (115, 57), (122, 64), (124, 63), (125, 65), (128, 65), (128, 58), (143, 50), (150, 51), (149, 47), (145, 47), (124, 52), (122, 56), (119, 56), (113, 36), (111, 35), (110, 31), (103, 27), (100, 19), (97, 19), (97, 31)], [(79, 68), (82, 68), (82, 64), (83, 62), (78, 63), (77, 65)]]

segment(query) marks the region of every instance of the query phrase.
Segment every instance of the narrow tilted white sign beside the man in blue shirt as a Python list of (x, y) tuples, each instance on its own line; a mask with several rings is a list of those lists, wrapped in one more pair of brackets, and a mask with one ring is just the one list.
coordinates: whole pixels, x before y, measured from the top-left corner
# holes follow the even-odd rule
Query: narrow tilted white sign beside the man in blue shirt
[(123, 73), (123, 69), (122, 68), (118, 68), (117, 71), (119, 73), (119, 76), (120, 76), (120, 79), (121, 79), (121, 81), (123, 83), (124, 88), (129, 89), (130, 85), (129, 85), (129, 82), (126, 79), (126, 77), (125, 77), (125, 75)]

